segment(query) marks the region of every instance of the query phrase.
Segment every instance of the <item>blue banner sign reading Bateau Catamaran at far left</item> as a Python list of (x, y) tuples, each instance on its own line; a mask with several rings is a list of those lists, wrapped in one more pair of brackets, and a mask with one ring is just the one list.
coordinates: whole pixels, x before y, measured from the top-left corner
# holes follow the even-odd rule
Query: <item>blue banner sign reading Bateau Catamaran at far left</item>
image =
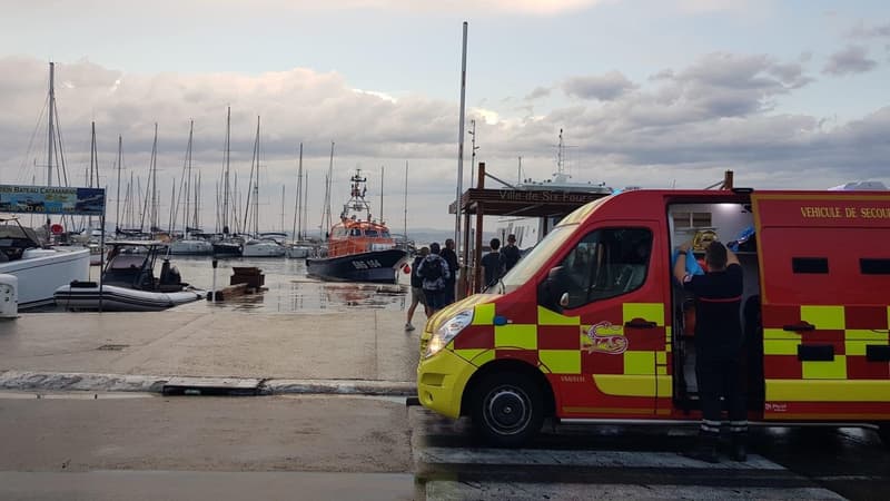
[(101, 216), (105, 188), (0, 185), (0, 213)]

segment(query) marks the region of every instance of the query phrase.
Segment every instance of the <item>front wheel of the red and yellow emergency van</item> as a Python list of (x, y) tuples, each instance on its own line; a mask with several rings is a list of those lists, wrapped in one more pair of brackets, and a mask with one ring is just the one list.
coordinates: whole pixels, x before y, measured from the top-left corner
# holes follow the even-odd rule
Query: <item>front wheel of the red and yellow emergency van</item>
[(535, 436), (544, 422), (541, 385), (525, 374), (488, 374), (476, 386), (472, 405), (475, 432), (495, 446), (520, 446)]

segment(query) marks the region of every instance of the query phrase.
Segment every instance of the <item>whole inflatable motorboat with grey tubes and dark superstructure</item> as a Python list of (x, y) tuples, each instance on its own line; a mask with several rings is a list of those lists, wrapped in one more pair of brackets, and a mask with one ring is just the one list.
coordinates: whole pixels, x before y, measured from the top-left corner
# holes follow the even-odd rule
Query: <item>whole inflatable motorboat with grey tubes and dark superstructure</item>
[(167, 258), (155, 277), (155, 262), (165, 243), (120, 240), (110, 246), (101, 286), (96, 282), (61, 286), (55, 294), (57, 305), (72, 311), (157, 312), (207, 296), (206, 291), (182, 282)]

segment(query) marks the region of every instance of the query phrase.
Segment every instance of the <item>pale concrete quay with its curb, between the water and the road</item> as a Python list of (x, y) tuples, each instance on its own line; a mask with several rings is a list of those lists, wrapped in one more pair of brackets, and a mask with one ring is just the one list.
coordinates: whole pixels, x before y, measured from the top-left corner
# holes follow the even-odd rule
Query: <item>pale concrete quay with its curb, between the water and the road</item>
[(159, 392), (178, 376), (254, 379), (266, 393), (405, 395), (413, 392), (418, 348), (404, 315), (209, 306), (21, 314), (0, 323), (0, 390)]

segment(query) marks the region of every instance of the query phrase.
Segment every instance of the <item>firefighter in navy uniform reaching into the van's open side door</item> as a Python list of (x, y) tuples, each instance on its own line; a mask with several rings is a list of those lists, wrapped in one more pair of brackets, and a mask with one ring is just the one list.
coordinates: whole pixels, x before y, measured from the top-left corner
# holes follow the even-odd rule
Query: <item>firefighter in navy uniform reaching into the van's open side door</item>
[(746, 460), (748, 415), (741, 379), (742, 267), (739, 258), (720, 242), (704, 254), (708, 273), (689, 275), (685, 259), (694, 259), (690, 244), (680, 246), (674, 276), (695, 295), (695, 379), (702, 405), (700, 442), (685, 455), (710, 463), (720, 461), (718, 443), (722, 422), (721, 396), (729, 410), (732, 449), (730, 458)]

